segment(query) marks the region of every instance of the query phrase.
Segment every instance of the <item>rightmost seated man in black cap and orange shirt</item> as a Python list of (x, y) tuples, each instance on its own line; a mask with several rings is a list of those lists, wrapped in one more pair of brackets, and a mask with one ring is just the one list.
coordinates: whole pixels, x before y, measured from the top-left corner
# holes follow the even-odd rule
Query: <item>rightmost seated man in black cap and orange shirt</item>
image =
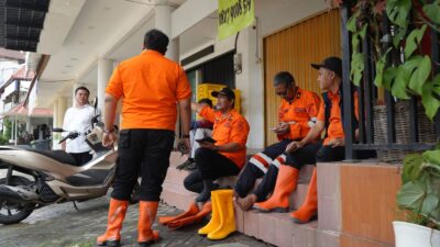
[[(311, 64), (316, 69), (319, 69), (319, 87), (322, 89), (321, 106), (319, 108), (318, 121), (310, 130), (305, 138), (300, 142), (293, 142), (288, 145), (288, 151), (295, 151), (306, 147), (319, 147), (316, 157), (308, 158), (305, 162), (299, 162), (298, 158), (288, 155), (286, 167), (301, 167), (305, 164), (316, 164), (322, 161), (339, 161), (345, 158), (345, 141), (343, 130), (343, 99), (342, 99), (342, 61), (339, 57), (328, 57), (321, 64)], [(358, 130), (358, 99), (354, 93), (354, 112), (352, 119), (354, 121), (353, 128)], [(321, 133), (326, 131), (326, 138), (322, 144), (316, 144)], [(294, 154), (295, 154), (294, 153)], [(290, 157), (292, 156), (292, 157)], [(371, 151), (359, 151), (358, 158), (370, 158), (374, 156)], [(292, 184), (290, 184), (292, 187)], [(276, 190), (276, 189), (275, 189)], [(275, 191), (274, 194), (278, 194)], [(307, 197), (302, 205), (290, 214), (296, 223), (309, 222), (318, 211), (318, 193), (317, 193), (317, 169), (310, 179)]]

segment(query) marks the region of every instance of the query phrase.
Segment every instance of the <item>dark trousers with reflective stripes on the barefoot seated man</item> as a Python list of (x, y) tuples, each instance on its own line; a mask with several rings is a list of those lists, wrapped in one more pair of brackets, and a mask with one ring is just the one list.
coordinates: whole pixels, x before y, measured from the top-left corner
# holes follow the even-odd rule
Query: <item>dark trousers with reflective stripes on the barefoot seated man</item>
[[(273, 161), (286, 150), (287, 145), (292, 139), (283, 139), (279, 143), (266, 147), (263, 151), (254, 155), (243, 171), (240, 173), (239, 180), (235, 183), (234, 190), (244, 198), (255, 184), (256, 179), (263, 177), (263, 181), (254, 190), (257, 201), (264, 201), (267, 194), (273, 190), (278, 176), (278, 167), (273, 165)], [(268, 160), (266, 160), (268, 159)], [(265, 160), (262, 164), (261, 160)], [(263, 169), (264, 166), (264, 169)]]

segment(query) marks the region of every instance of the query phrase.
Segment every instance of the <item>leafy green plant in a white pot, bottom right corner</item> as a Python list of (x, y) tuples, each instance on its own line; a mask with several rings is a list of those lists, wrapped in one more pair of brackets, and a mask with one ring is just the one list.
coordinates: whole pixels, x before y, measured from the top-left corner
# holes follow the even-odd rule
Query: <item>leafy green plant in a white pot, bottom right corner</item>
[(440, 149), (407, 155), (397, 205), (405, 222), (395, 221), (396, 247), (440, 246)]

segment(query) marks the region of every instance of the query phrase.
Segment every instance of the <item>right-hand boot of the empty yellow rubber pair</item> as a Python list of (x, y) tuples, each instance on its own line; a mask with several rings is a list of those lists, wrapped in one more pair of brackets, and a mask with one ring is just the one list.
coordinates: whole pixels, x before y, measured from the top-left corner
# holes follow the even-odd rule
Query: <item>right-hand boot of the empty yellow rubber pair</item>
[(223, 239), (237, 231), (232, 197), (232, 190), (218, 190), (217, 206), (220, 215), (220, 226), (208, 234), (209, 239)]

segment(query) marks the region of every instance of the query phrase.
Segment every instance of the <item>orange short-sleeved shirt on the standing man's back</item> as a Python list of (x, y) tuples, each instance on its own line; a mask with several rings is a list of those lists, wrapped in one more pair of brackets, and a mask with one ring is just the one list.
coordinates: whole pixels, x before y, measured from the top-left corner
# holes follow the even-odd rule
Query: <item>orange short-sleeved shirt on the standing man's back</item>
[(106, 92), (122, 99), (121, 128), (175, 131), (177, 101), (191, 97), (183, 68), (155, 50), (122, 61)]

